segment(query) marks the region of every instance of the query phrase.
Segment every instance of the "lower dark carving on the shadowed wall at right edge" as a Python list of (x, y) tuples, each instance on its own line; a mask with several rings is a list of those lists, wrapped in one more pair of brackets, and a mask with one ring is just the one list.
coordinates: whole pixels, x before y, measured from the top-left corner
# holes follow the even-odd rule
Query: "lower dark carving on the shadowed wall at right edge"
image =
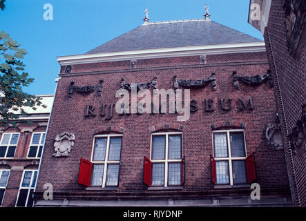
[(290, 146), (294, 153), (302, 145), (306, 151), (306, 104), (302, 108), (302, 117), (298, 120), (296, 127), (292, 129), (292, 133), (289, 135)]

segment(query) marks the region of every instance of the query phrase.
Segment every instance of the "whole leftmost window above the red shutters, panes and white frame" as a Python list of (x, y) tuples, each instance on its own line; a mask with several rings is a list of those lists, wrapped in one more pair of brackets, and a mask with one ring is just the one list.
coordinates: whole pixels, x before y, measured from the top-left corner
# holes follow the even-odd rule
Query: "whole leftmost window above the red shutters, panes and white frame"
[(117, 186), (122, 135), (96, 135), (93, 142), (90, 186)]

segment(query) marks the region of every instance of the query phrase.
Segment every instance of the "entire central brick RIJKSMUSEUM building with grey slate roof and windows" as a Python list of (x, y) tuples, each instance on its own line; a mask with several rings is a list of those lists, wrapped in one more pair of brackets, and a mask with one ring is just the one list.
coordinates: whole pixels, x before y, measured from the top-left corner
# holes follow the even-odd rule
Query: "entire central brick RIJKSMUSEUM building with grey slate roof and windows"
[[(277, 113), (265, 44), (209, 17), (144, 20), (58, 58), (35, 205), (291, 206), (284, 152), (265, 137)], [(117, 90), (137, 82), (152, 95), (190, 89), (190, 118), (117, 113)], [(250, 198), (253, 183), (260, 200)]]

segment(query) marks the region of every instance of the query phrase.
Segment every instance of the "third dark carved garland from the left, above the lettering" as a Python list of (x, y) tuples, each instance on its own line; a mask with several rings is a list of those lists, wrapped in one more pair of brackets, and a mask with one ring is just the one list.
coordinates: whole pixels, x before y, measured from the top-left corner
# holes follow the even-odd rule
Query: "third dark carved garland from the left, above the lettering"
[(213, 90), (217, 90), (217, 83), (216, 83), (215, 75), (216, 75), (215, 73), (211, 73), (211, 77), (207, 79), (202, 79), (202, 80), (178, 79), (178, 76), (175, 75), (173, 77), (173, 88), (178, 89), (179, 86), (182, 86), (183, 88), (189, 88), (189, 89), (204, 88), (210, 83)]

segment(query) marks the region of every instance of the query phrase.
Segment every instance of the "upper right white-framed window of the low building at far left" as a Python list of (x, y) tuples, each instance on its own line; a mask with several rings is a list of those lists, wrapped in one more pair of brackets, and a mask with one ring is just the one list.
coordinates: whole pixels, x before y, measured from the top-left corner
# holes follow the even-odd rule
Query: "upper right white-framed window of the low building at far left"
[(30, 146), (28, 148), (28, 158), (40, 158), (44, 147), (46, 132), (32, 133)]

